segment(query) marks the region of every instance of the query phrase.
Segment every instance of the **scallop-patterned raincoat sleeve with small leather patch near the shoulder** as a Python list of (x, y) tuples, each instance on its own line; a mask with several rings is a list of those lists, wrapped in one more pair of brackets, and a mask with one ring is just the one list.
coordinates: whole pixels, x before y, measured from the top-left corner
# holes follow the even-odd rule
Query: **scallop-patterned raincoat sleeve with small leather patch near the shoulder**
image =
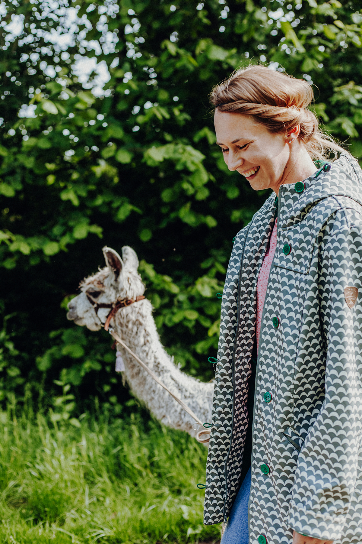
[(320, 243), (317, 279), (325, 400), (297, 460), (289, 511), (291, 528), (325, 540), (340, 539), (349, 511), (362, 519), (353, 504), (362, 493), (362, 221), (337, 215)]

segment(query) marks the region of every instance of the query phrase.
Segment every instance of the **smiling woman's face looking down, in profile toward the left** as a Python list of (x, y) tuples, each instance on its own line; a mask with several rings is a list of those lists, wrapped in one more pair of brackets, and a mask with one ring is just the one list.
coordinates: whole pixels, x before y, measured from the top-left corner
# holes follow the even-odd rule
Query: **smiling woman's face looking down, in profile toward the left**
[[(285, 182), (290, 146), (285, 134), (272, 134), (250, 115), (216, 110), (214, 125), (217, 143), (229, 170), (237, 170), (251, 187), (278, 189)], [(295, 138), (297, 134), (293, 134)], [(284, 179), (283, 179), (284, 178)]]

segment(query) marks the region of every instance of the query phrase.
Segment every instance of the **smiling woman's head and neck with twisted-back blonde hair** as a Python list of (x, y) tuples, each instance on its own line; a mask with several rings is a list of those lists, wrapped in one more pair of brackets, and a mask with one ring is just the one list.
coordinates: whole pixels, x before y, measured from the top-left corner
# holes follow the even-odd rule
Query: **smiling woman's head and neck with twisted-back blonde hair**
[(277, 193), (282, 183), (313, 174), (312, 159), (344, 151), (318, 130), (316, 116), (307, 109), (312, 87), (302, 79), (249, 66), (215, 86), (210, 97), (225, 162), (255, 190)]

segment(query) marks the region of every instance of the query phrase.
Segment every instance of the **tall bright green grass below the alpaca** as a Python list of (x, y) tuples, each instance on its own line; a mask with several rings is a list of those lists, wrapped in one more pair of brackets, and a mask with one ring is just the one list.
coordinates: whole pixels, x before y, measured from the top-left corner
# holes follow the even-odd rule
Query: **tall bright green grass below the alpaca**
[(86, 415), (80, 428), (0, 411), (0, 543), (215, 542), (206, 448), (186, 433)]

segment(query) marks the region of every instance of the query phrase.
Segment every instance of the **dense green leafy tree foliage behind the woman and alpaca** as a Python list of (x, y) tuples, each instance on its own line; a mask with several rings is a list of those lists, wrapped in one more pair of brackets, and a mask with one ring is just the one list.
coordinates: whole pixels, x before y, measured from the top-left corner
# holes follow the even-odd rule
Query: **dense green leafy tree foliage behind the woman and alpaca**
[(362, 157), (359, 2), (1, 9), (3, 394), (56, 379), (119, 406), (109, 337), (65, 319), (104, 244), (137, 251), (164, 345), (211, 379), (232, 239), (269, 193), (227, 170), (208, 92), (250, 62), (304, 78), (327, 131)]

